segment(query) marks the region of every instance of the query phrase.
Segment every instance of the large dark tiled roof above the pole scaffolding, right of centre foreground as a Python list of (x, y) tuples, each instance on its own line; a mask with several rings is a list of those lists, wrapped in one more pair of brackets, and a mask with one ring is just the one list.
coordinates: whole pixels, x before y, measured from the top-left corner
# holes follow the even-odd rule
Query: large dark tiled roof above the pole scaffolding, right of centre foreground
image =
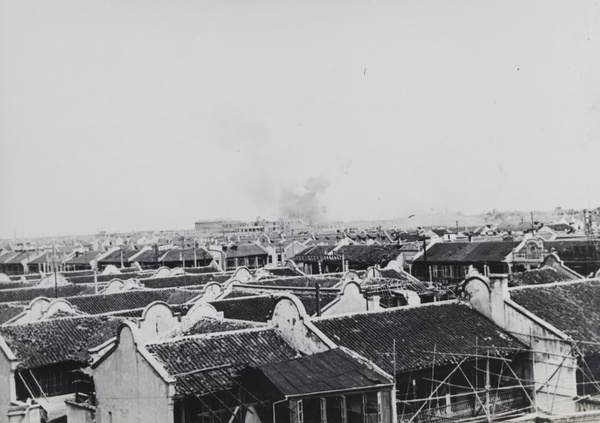
[(313, 323), (333, 342), (389, 373), (394, 368), (394, 340), (397, 372), (430, 367), (434, 356), (437, 365), (450, 364), (457, 358), (452, 354), (472, 355), (477, 346), (480, 351), (498, 347), (501, 352), (525, 348), (483, 315), (454, 302), (314, 319)]

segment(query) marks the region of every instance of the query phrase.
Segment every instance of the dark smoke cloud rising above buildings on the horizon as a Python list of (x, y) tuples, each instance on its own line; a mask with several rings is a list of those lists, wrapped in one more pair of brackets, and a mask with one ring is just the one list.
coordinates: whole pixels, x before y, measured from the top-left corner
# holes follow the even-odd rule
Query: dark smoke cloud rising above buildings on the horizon
[(281, 188), (281, 214), (288, 219), (304, 219), (310, 224), (319, 223), (325, 218), (327, 208), (319, 197), (325, 194), (329, 181), (324, 176), (309, 178), (301, 187)]

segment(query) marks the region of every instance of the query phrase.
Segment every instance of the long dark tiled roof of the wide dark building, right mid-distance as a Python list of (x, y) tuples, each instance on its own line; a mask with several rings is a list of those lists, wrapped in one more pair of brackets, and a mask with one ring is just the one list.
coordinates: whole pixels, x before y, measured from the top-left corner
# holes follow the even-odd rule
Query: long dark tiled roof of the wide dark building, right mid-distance
[[(484, 263), (500, 262), (519, 245), (514, 241), (444, 242), (427, 248), (428, 262)], [(424, 261), (421, 255), (415, 261)]]

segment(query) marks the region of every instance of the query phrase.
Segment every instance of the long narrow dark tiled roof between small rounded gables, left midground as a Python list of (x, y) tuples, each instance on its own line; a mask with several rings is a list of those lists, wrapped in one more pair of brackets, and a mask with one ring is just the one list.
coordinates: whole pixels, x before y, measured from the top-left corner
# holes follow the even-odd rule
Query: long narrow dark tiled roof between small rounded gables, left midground
[(146, 307), (154, 301), (181, 304), (201, 293), (202, 291), (181, 289), (143, 289), (113, 294), (83, 295), (69, 297), (66, 300), (83, 313), (103, 314)]

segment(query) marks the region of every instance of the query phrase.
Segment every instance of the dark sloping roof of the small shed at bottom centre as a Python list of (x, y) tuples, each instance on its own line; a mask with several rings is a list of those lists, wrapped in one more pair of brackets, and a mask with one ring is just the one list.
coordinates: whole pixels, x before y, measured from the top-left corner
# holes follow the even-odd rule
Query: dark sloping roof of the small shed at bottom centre
[(341, 348), (263, 364), (258, 369), (283, 395), (364, 389), (392, 383), (391, 378)]

